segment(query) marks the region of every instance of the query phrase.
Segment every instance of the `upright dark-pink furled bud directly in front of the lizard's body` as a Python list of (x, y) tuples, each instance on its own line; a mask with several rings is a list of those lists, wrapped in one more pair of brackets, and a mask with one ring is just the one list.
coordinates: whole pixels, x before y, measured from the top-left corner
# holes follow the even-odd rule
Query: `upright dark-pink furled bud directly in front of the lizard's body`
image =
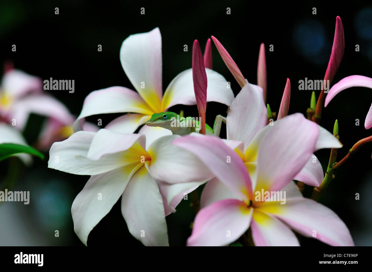
[(200, 131), (205, 134), (205, 108), (207, 100), (207, 75), (205, 73), (203, 55), (200, 50), (198, 40), (194, 41), (192, 47), (192, 79), (194, 82), (194, 92), (196, 105), (198, 105), (200, 117)]

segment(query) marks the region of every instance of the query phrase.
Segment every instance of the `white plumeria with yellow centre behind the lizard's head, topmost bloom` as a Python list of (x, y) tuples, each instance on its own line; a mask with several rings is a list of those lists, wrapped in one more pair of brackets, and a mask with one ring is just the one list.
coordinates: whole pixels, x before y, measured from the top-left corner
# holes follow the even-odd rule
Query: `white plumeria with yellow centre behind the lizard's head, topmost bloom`
[[(208, 43), (206, 48), (210, 49)], [(211, 56), (211, 53), (208, 50), (205, 56), (207, 67), (210, 67), (212, 62), (208, 56)], [(191, 68), (179, 73), (170, 82), (163, 95), (161, 35), (158, 28), (126, 38), (120, 49), (120, 60), (126, 76), (137, 92), (120, 86), (93, 91), (84, 100), (83, 109), (74, 123), (75, 131), (81, 130), (84, 118), (90, 115), (129, 112), (114, 119), (105, 128), (122, 133), (133, 133), (154, 113), (167, 111), (169, 107), (177, 104), (196, 104)], [(234, 94), (230, 88), (227, 88), (226, 79), (208, 68), (206, 68), (206, 75), (207, 101), (230, 105)], [(142, 127), (139, 133), (144, 133), (146, 130), (153, 131), (154, 135), (160, 135), (160, 132), (163, 132), (161, 135), (171, 133), (164, 128), (148, 126)]]

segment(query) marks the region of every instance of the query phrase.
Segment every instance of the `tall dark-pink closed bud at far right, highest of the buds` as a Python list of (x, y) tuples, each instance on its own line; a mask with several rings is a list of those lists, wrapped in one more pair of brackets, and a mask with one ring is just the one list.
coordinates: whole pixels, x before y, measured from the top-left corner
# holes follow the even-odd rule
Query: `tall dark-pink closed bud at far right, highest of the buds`
[(334, 38), (331, 56), (328, 62), (327, 71), (325, 71), (324, 80), (333, 80), (334, 75), (339, 69), (342, 57), (344, 55), (345, 39), (344, 39), (344, 28), (342, 26), (340, 16), (336, 17), (336, 29), (334, 30)]

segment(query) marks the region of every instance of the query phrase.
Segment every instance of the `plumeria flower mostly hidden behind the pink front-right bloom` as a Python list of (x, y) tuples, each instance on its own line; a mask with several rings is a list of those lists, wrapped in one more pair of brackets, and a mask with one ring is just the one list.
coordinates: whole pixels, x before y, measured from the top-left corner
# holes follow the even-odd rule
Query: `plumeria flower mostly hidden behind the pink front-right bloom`
[[(254, 86), (252, 88), (252, 86)], [(287, 88), (286, 88), (287, 89)], [(287, 92), (285, 91), (285, 94)], [(288, 101), (289, 102), (289, 101)], [(288, 104), (289, 105), (289, 104)], [(282, 106), (280, 107), (282, 109)], [(288, 108), (287, 108), (288, 112)], [(239, 94), (232, 101), (229, 112), (226, 118), (227, 140), (223, 140), (225, 144), (229, 145), (232, 149), (236, 149), (240, 143), (243, 144), (242, 150), (237, 150), (241, 153), (244, 163), (251, 177), (256, 175), (257, 166), (257, 141), (262, 138), (264, 133), (267, 133), (270, 128), (275, 126), (275, 122), (267, 124), (267, 109), (263, 102), (262, 89), (253, 84), (246, 84), (243, 86)], [(318, 150), (320, 148), (340, 148), (342, 144), (323, 127), (318, 126), (319, 137), (317, 142)], [(313, 150), (313, 152), (315, 152)], [(244, 154), (244, 155), (243, 155)], [(308, 157), (307, 163), (303, 169), (299, 171), (294, 177), (295, 180), (302, 181), (310, 186), (318, 187), (324, 177), (323, 168), (318, 158), (311, 154)], [(195, 189), (195, 186), (200, 186), (202, 183), (190, 184), (172, 184), (172, 188), (167, 190), (164, 188), (164, 196), (168, 203), (177, 203), (183, 193)], [(217, 184), (217, 185), (212, 185)], [(218, 187), (220, 182), (209, 182), (203, 190), (201, 204), (206, 203), (203, 195), (208, 194), (207, 188), (209, 186)], [(170, 185), (163, 184), (166, 187)], [(213, 190), (213, 189), (211, 189)], [(178, 203), (177, 203), (178, 204)]]

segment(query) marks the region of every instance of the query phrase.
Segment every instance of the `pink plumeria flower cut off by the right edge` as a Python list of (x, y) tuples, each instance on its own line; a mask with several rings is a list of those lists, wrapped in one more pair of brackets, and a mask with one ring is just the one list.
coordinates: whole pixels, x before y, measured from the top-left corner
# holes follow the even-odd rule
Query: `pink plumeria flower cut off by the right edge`
[[(327, 106), (339, 92), (353, 87), (365, 87), (372, 89), (372, 78), (368, 78), (367, 76), (352, 75), (341, 79), (329, 90), (327, 96), (325, 97), (324, 106)], [(364, 127), (367, 130), (372, 127), (372, 105), (367, 113)]]

